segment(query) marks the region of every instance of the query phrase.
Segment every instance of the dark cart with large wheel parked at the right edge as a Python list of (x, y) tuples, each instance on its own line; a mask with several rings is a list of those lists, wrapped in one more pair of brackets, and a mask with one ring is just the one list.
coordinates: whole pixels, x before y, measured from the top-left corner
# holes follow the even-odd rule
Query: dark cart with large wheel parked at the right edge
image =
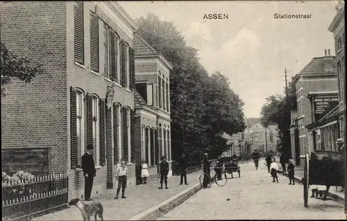
[(304, 206), (307, 207), (310, 185), (326, 186), (323, 199), (326, 199), (330, 186), (345, 185), (345, 159), (340, 152), (316, 150), (305, 156), (303, 197)]

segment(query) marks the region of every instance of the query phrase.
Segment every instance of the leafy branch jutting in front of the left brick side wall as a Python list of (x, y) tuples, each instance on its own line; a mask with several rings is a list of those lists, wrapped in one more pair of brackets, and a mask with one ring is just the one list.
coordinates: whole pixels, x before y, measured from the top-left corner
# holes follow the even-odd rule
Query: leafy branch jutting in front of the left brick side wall
[(5, 85), (17, 79), (31, 82), (36, 75), (44, 73), (42, 64), (33, 64), (27, 57), (20, 58), (1, 42), (1, 96), (6, 96)]

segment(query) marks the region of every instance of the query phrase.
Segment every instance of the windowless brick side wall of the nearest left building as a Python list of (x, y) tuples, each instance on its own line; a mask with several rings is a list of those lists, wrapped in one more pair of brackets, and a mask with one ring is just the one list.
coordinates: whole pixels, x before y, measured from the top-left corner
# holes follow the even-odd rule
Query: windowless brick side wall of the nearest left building
[(51, 148), (51, 172), (69, 168), (66, 2), (1, 2), (1, 42), (40, 62), (31, 84), (13, 81), (1, 98), (1, 148)]

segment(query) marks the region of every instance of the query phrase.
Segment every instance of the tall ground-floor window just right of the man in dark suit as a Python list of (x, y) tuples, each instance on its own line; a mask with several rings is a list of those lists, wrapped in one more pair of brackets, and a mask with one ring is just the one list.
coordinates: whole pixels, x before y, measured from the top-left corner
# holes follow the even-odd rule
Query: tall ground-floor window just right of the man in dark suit
[(99, 98), (92, 96), (92, 130), (93, 130), (93, 146), (94, 146), (94, 163), (99, 165)]

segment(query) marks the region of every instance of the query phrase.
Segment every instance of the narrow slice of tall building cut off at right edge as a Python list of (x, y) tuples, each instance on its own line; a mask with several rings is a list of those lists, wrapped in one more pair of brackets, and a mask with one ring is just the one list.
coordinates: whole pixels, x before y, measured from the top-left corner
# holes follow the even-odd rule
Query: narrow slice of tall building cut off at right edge
[[(336, 111), (339, 121), (339, 138), (344, 139), (346, 147), (346, 37), (345, 37), (345, 3), (339, 1), (335, 7), (337, 15), (332, 19), (328, 30), (333, 33), (335, 40), (337, 84), (339, 88), (339, 107)], [(346, 148), (344, 148), (346, 150)]]

